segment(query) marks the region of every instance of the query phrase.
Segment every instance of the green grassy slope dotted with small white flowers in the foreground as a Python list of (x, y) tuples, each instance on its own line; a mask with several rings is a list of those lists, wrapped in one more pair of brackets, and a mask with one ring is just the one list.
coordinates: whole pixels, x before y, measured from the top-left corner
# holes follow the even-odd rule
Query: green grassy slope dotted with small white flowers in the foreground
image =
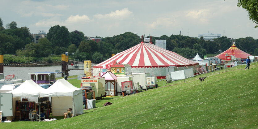
[[(53, 122), (0, 123), (5, 128), (258, 128), (258, 63), (199, 75)], [(173, 84), (173, 85), (171, 85)], [(159, 83), (159, 86), (163, 82)], [(112, 105), (102, 107), (105, 102)]]

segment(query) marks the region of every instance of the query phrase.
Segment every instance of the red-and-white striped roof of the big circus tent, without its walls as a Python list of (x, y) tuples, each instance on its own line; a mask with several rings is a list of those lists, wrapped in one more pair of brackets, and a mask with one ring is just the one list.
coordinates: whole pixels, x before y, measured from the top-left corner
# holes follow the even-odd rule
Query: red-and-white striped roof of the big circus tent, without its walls
[(152, 43), (139, 43), (115, 56), (94, 66), (94, 68), (106, 68), (106, 65), (129, 64), (132, 68), (141, 67), (168, 67), (168, 66), (192, 66), (198, 64), (187, 58), (160, 48)]

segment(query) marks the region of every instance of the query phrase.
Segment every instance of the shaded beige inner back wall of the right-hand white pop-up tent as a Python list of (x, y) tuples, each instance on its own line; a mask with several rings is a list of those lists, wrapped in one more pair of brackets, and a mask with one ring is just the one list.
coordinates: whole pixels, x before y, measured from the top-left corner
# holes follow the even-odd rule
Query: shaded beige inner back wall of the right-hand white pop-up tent
[(52, 116), (64, 116), (67, 109), (73, 109), (73, 97), (52, 97)]

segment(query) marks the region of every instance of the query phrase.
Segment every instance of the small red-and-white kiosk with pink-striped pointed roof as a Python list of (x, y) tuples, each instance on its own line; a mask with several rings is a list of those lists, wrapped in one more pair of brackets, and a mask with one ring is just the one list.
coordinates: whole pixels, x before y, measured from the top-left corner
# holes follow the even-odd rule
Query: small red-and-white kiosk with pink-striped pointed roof
[(115, 96), (117, 95), (117, 76), (114, 75), (112, 72), (107, 71), (102, 77), (105, 78), (105, 92), (106, 96)]

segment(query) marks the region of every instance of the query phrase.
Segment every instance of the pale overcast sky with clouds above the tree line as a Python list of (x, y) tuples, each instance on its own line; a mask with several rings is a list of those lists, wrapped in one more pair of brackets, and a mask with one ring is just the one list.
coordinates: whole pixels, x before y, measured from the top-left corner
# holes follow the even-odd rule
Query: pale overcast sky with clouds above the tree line
[[(0, 0), (3, 26), (15, 21), (31, 33), (63, 25), (88, 37), (124, 32), (160, 37), (203, 32), (258, 39), (258, 28), (237, 0)], [(225, 32), (225, 33), (224, 33)]]

